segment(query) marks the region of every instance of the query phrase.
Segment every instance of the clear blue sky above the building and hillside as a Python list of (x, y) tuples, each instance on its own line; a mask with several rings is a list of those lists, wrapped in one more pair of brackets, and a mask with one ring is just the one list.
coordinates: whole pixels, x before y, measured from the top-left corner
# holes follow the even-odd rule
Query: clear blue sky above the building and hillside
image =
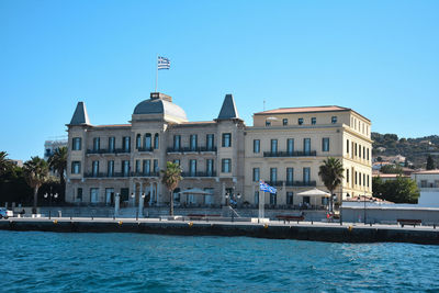
[(126, 123), (155, 88), (189, 120), (337, 104), (372, 129), (439, 134), (439, 1), (0, 0), (0, 150), (42, 156), (78, 101)]

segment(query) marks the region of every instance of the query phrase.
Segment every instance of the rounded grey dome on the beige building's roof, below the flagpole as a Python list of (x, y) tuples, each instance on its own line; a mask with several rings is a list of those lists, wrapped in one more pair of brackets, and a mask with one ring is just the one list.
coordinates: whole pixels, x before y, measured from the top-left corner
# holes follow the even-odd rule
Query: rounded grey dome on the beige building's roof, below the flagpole
[(185, 112), (179, 105), (161, 99), (148, 99), (136, 105), (133, 115), (164, 114), (187, 121)]

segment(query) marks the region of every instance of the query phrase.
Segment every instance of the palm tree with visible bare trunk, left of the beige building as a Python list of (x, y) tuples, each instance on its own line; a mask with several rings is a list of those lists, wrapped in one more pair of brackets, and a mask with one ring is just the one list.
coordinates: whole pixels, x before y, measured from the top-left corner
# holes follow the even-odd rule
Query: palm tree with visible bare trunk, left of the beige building
[(48, 178), (48, 165), (38, 157), (32, 157), (29, 161), (24, 162), (24, 178), (27, 184), (34, 189), (34, 205), (33, 213), (36, 213), (37, 194), (41, 185)]

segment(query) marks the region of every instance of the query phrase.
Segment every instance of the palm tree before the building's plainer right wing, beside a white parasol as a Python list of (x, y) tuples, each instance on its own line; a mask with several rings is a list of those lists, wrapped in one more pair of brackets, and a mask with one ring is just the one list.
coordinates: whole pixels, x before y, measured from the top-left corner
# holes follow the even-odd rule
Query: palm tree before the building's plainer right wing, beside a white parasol
[(341, 179), (344, 179), (342, 164), (339, 159), (328, 157), (323, 161), (319, 167), (318, 176), (320, 177), (325, 187), (329, 190), (329, 211), (333, 212), (333, 193), (341, 184)]

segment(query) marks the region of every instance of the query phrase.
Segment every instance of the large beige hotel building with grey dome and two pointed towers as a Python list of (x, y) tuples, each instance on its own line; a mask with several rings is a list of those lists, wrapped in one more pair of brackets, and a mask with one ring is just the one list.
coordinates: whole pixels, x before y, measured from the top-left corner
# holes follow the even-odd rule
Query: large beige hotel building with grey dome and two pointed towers
[[(218, 206), (226, 194), (258, 204), (258, 180), (278, 188), (267, 195), (274, 206), (324, 205), (325, 199), (297, 196), (317, 187), (318, 167), (328, 156), (341, 159), (340, 196), (371, 194), (370, 121), (340, 106), (289, 108), (255, 113), (254, 126), (239, 119), (232, 94), (216, 119), (189, 122), (171, 97), (151, 93), (134, 109), (130, 124), (92, 125), (79, 102), (68, 126), (66, 200), (112, 204), (120, 193), (125, 205), (166, 205), (169, 192), (159, 171), (180, 164), (183, 180), (175, 191), (181, 205)], [(202, 189), (207, 195), (179, 193)]]

